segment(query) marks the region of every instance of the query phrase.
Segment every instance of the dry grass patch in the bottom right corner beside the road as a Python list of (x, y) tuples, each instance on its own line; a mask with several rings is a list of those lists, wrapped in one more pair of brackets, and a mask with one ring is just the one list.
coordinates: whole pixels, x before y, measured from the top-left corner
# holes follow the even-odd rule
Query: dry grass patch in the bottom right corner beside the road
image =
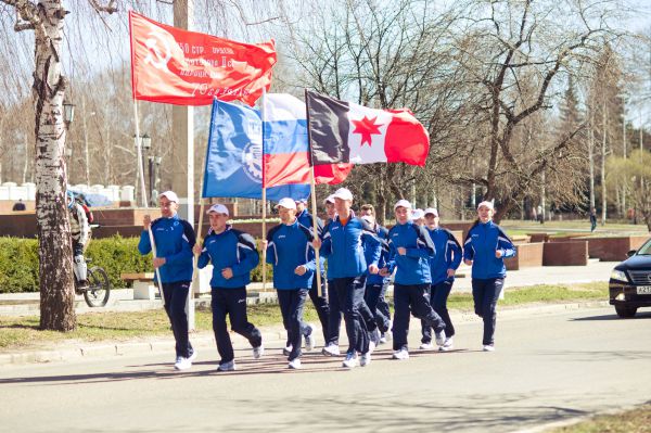
[(651, 405), (617, 415), (603, 415), (577, 424), (550, 430), (548, 433), (649, 433)]

